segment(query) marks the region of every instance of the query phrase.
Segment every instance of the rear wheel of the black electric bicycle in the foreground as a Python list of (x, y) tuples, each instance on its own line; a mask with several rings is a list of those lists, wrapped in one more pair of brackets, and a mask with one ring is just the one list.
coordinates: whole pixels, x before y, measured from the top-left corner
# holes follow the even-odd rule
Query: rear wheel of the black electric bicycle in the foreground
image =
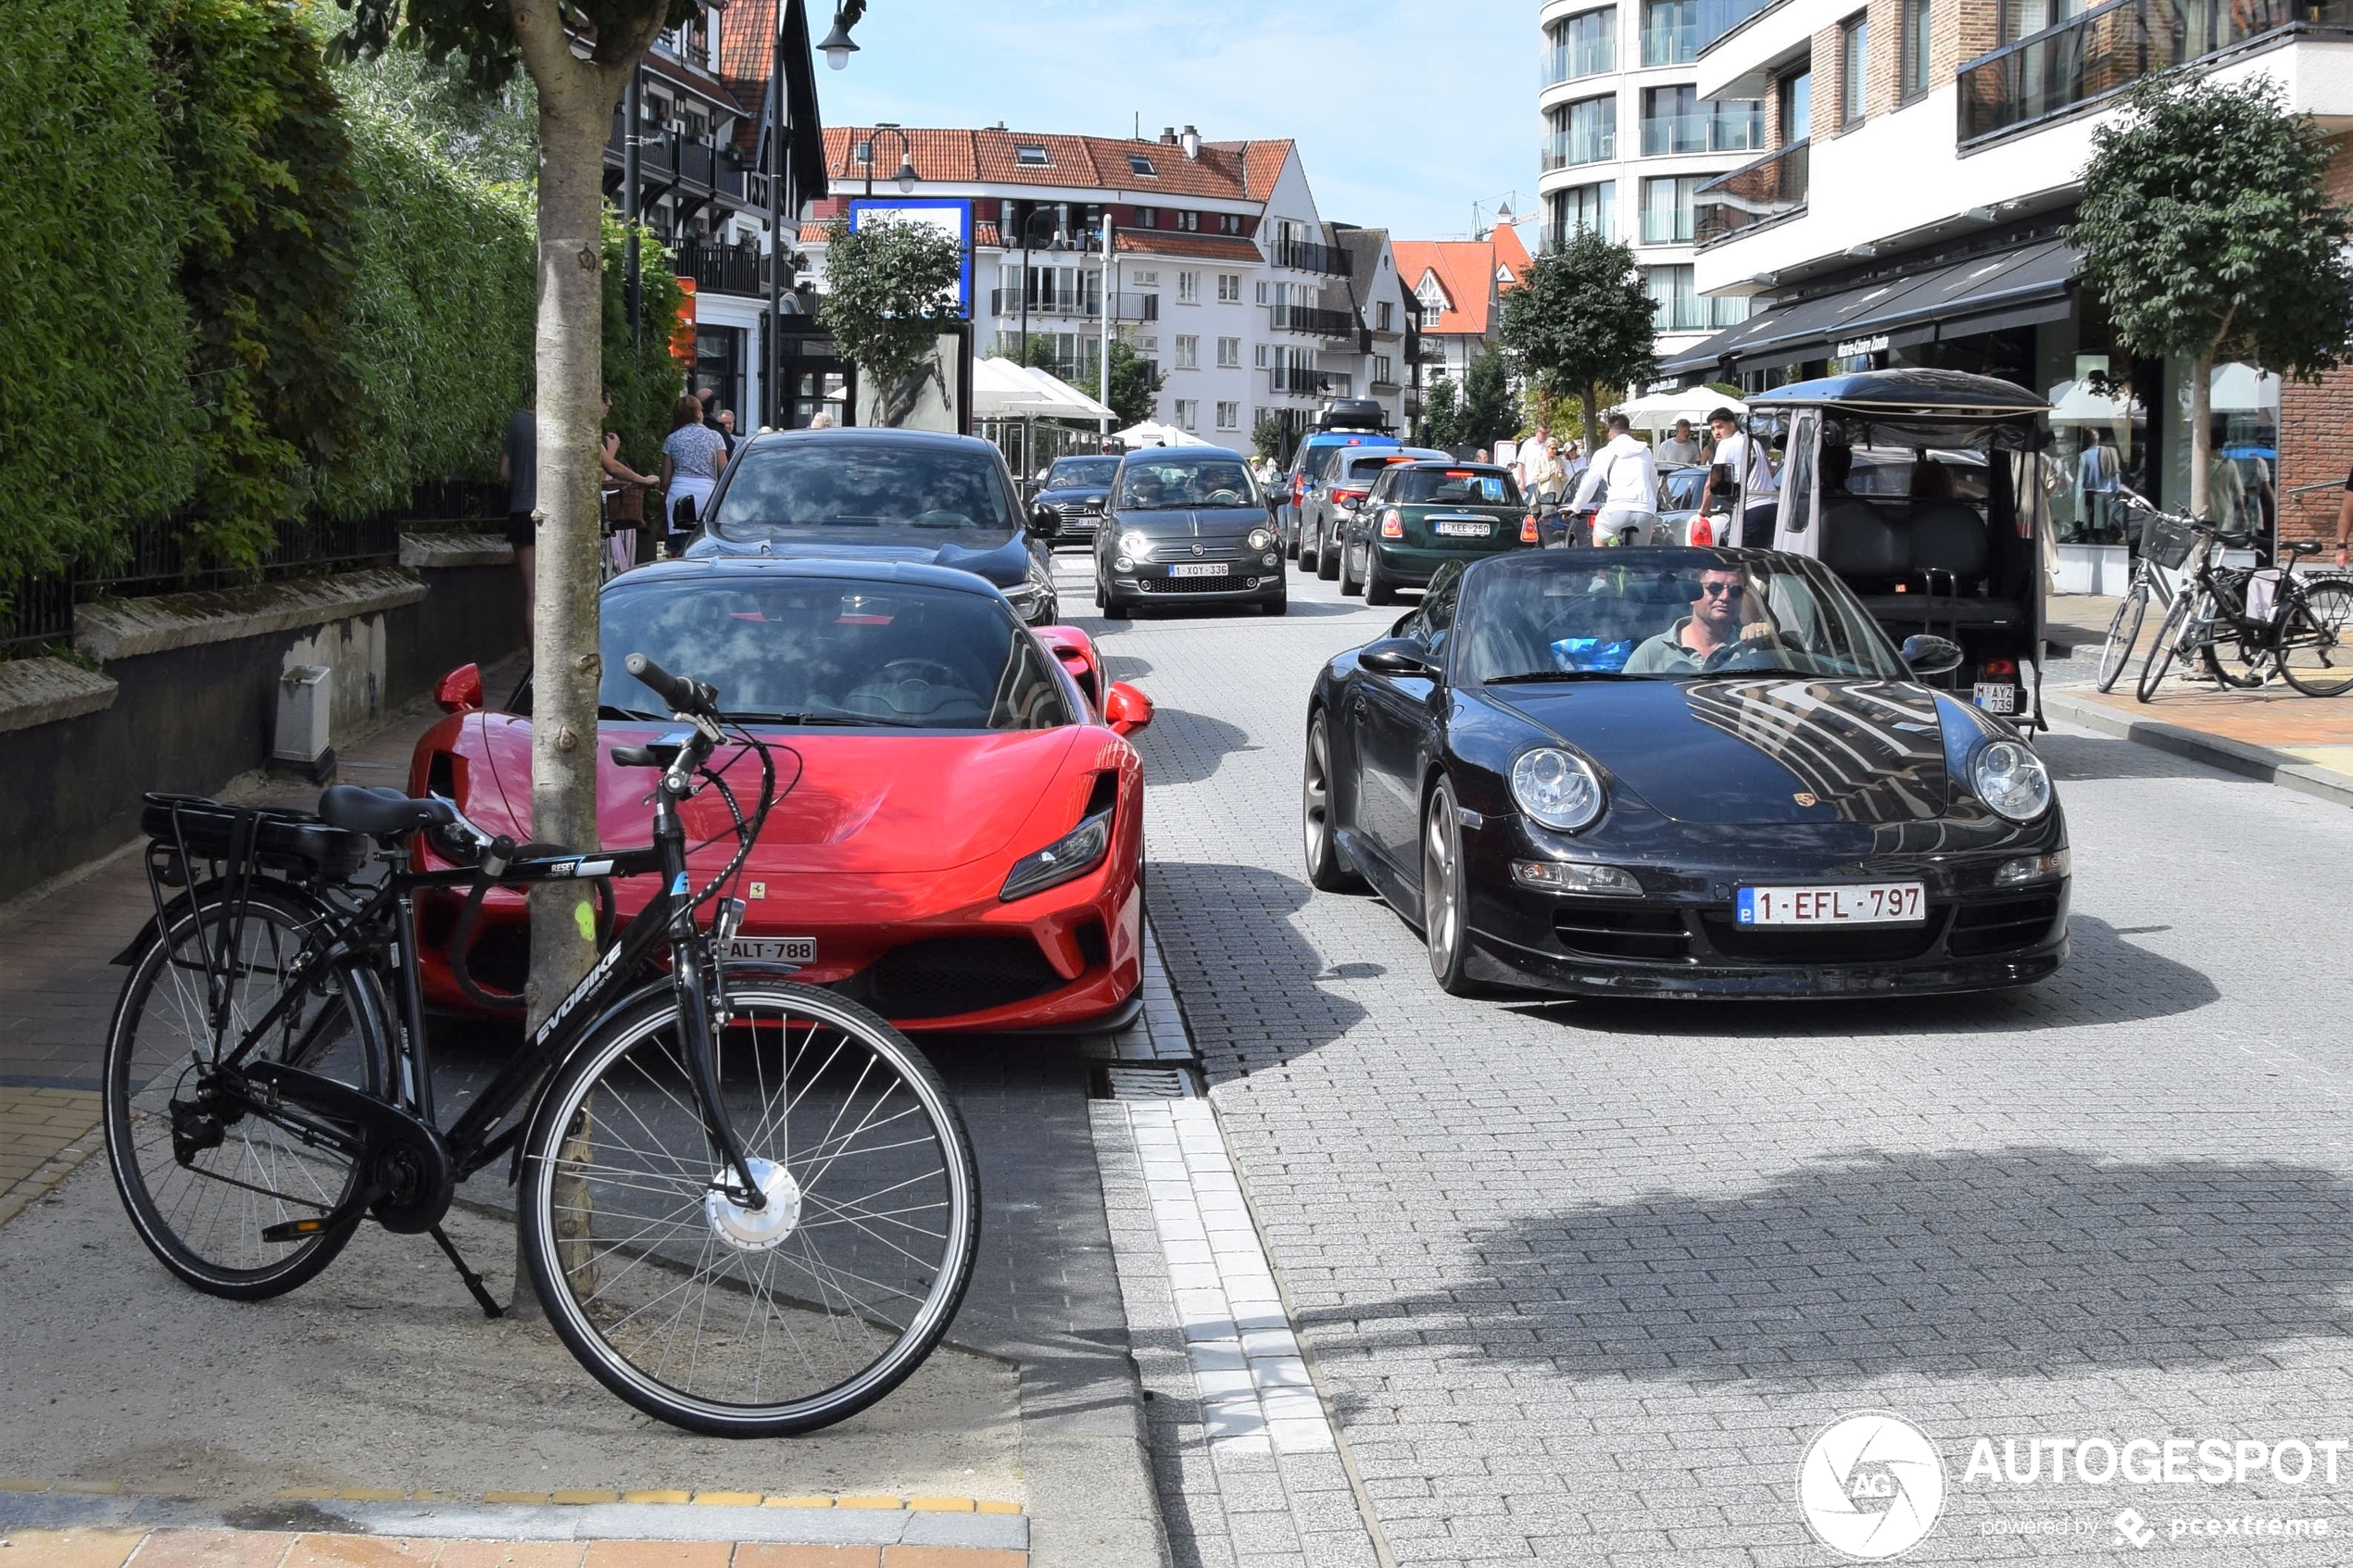
[[(101, 1100), (106, 1164), (139, 1239), (198, 1291), (261, 1300), (334, 1262), (358, 1220), (296, 1241), (264, 1241), (264, 1227), (332, 1213), (353, 1194), (358, 1166), (306, 1140), (294, 1117), (209, 1093), (205, 947), (216, 961), (231, 959), (233, 1046), (278, 1001), (287, 966), (327, 917), (304, 893), (271, 884), (252, 891), (240, 919), (233, 914), (219, 889), (202, 889), (174, 905), (132, 959), (106, 1034)], [(313, 976), (249, 1060), (292, 1063), (384, 1093), (381, 1020), (374, 973), (341, 964)]]

